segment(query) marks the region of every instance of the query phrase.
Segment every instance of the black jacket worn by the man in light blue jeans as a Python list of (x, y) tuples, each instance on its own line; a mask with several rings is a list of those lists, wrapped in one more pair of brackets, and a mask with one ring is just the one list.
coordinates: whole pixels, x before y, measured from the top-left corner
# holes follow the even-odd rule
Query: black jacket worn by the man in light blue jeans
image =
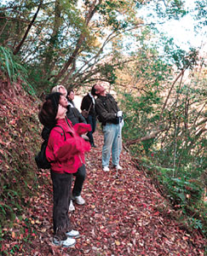
[(118, 124), (120, 121), (116, 115), (118, 111), (118, 103), (111, 94), (98, 96), (95, 100), (95, 112), (102, 125), (106, 125), (106, 123)]

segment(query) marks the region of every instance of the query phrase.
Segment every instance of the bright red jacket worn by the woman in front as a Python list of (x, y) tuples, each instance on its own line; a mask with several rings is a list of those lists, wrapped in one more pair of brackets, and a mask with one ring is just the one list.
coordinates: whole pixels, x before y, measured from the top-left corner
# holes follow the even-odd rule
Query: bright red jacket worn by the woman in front
[(54, 127), (49, 134), (49, 143), (46, 148), (46, 157), (54, 172), (74, 173), (85, 163), (84, 152), (89, 151), (90, 144), (85, 142), (80, 135), (91, 131), (91, 126), (83, 123), (72, 125), (67, 119), (59, 119), (56, 125), (60, 125), (66, 134), (66, 141), (60, 127)]

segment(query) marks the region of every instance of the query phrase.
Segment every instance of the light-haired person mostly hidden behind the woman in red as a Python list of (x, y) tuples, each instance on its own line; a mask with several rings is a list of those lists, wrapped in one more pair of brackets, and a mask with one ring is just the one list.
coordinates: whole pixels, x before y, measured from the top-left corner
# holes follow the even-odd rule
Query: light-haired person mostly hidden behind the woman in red
[[(52, 91), (56, 91), (56, 90), (59, 90), (59, 92), (63, 96), (67, 95), (67, 90), (66, 90), (65, 86), (63, 86), (63, 85), (57, 85), (52, 89)], [(60, 104), (64, 108), (67, 109), (66, 117), (72, 121), (72, 125), (76, 125), (78, 123), (87, 124), (86, 120), (79, 113), (78, 109), (72, 108), (71, 105), (69, 105), (68, 99), (67, 99), (67, 101), (60, 102)], [(75, 115), (75, 113), (77, 113), (77, 114)], [(81, 137), (83, 137), (83, 139), (85, 139), (86, 136), (83, 134)], [(88, 137), (87, 137), (87, 139), (88, 139)], [(85, 140), (87, 140), (87, 139), (85, 139)], [(72, 189), (72, 200), (75, 201), (78, 205), (84, 205), (85, 200), (81, 196), (81, 192), (82, 192), (83, 183), (84, 183), (84, 180), (86, 177), (85, 165), (78, 168), (78, 172), (74, 173), (73, 176), (76, 178), (75, 178), (75, 183), (74, 183), (74, 186)], [(72, 201), (70, 201), (69, 212), (72, 212), (74, 210), (75, 210), (75, 207), (73, 206)]]

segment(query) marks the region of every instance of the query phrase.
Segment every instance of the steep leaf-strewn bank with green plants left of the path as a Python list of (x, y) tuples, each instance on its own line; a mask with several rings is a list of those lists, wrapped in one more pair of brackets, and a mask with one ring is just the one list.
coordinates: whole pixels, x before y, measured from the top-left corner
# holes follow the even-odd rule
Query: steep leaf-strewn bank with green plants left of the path
[[(9, 86), (9, 84), (8, 84)], [(33, 231), (24, 212), (37, 195), (40, 183), (45, 183), (37, 173), (34, 152), (41, 143), (37, 120), (38, 101), (21, 90), (20, 84), (10, 85), (10, 90), (0, 95), (0, 254), (17, 255), (21, 243), (7, 247), (3, 241), (18, 236), (20, 241), (32, 242)], [(22, 224), (20, 224), (22, 223)], [(9, 230), (20, 224), (18, 234)]]

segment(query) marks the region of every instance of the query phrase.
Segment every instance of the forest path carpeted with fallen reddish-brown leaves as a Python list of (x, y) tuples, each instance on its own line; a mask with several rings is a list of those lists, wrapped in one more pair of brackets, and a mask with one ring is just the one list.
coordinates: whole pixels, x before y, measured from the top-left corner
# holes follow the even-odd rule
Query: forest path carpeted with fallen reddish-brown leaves
[(82, 193), (86, 204), (75, 205), (75, 212), (70, 213), (81, 237), (73, 248), (52, 245), (52, 188), (40, 188), (43, 197), (37, 200), (36, 211), (42, 216), (38, 220), (42, 232), (37, 233), (31, 255), (204, 255), (204, 237), (197, 231), (181, 230), (164, 198), (135, 167), (129, 153), (123, 150), (121, 154), (124, 169), (118, 177), (114, 169), (102, 171), (101, 131), (95, 131), (94, 137), (97, 148), (86, 154)]

